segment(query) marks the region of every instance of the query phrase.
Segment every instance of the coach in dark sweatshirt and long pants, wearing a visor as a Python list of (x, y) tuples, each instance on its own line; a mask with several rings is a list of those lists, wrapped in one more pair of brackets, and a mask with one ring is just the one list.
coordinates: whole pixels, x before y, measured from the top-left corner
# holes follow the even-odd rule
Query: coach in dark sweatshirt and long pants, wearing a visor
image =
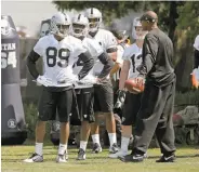
[(141, 109), (134, 133), (132, 154), (122, 161), (138, 162), (144, 160), (151, 137), (157, 135), (162, 157), (157, 162), (175, 160), (173, 107), (175, 94), (175, 74), (173, 67), (173, 43), (158, 26), (158, 16), (148, 11), (141, 17), (146, 35), (143, 44), (143, 63), (136, 82), (144, 84)]

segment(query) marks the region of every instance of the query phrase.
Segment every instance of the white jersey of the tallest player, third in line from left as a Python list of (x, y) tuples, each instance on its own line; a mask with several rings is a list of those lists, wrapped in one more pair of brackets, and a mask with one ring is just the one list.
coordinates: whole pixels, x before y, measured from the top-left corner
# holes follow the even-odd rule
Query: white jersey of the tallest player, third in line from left
[[(89, 37), (92, 38), (91, 36)], [(107, 49), (117, 47), (116, 37), (109, 30), (100, 28), (92, 39), (95, 39), (101, 44), (104, 52), (106, 52)], [(103, 67), (104, 65), (101, 63), (100, 59), (97, 59), (93, 67), (94, 75), (98, 76), (98, 74), (101, 74), (101, 71), (103, 70)]]

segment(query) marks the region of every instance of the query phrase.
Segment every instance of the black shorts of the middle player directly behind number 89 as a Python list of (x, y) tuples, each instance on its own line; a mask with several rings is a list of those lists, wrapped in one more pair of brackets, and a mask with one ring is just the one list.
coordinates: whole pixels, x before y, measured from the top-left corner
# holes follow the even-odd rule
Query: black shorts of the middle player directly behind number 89
[(85, 88), (85, 89), (76, 89), (76, 96), (78, 102), (79, 115), (81, 121), (94, 122), (94, 89)]

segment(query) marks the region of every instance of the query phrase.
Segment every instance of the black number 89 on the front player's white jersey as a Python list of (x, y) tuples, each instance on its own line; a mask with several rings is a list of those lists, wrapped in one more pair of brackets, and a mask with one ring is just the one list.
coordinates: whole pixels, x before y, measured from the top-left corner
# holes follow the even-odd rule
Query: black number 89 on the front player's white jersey
[[(56, 62), (56, 56), (58, 56), (58, 62)], [(47, 49), (47, 64), (49, 67), (54, 67), (56, 64), (59, 67), (68, 66), (68, 58), (70, 56), (70, 52), (68, 49), (59, 49), (49, 47)]]

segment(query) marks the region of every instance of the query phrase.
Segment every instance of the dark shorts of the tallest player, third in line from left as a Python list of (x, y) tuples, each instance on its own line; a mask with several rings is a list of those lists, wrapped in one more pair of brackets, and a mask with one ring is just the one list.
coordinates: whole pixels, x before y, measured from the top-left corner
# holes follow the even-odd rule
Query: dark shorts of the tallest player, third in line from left
[(110, 82), (94, 85), (94, 111), (111, 113), (114, 108), (114, 90)]

